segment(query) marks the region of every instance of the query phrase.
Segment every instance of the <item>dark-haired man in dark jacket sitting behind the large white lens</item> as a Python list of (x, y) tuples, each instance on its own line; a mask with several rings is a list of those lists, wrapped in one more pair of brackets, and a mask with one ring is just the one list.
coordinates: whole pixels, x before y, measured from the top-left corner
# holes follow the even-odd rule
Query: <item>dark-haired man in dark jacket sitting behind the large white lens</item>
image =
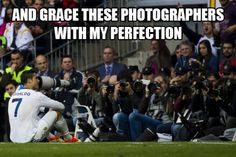
[(55, 76), (55, 79), (67, 80), (71, 83), (66, 89), (55, 90), (54, 99), (64, 103), (65, 111), (63, 115), (67, 120), (70, 130), (74, 130), (73, 122), (75, 122), (75, 118), (78, 115), (76, 106), (79, 105), (77, 97), (82, 87), (83, 74), (75, 69), (72, 56), (70, 55), (62, 57), (61, 68), (61, 72)]

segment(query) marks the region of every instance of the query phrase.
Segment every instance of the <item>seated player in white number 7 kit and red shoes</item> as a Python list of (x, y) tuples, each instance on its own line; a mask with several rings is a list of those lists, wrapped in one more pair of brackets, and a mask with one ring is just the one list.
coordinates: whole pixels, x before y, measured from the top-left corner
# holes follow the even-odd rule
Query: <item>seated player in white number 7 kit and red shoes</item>
[[(64, 105), (36, 91), (39, 88), (36, 74), (33, 71), (24, 72), (21, 82), (23, 85), (17, 88), (8, 104), (11, 141), (42, 141), (55, 127), (62, 134), (64, 142), (77, 142), (69, 134), (66, 121), (61, 116)], [(43, 108), (50, 110), (43, 117), (39, 117), (38, 114)]]

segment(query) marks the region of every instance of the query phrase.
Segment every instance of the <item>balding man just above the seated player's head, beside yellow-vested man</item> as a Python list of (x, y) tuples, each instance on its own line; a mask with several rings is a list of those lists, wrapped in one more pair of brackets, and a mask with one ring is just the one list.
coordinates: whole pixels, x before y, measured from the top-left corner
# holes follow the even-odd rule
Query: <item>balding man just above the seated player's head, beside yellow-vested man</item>
[(37, 76), (48, 76), (54, 77), (55, 74), (51, 70), (49, 70), (48, 60), (44, 55), (38, 55), (35, 58), (35, 67), (37, 68)]

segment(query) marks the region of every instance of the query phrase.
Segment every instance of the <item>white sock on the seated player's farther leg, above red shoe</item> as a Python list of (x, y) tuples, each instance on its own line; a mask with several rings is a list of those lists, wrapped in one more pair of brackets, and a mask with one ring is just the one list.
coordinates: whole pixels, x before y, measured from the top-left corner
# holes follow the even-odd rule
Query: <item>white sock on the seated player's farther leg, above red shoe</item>
[(65, 139), (70, 140), (72, 138), (69, 133), (66, 120), (62, 116), (56, 121), (55, 128), (63, 135)]

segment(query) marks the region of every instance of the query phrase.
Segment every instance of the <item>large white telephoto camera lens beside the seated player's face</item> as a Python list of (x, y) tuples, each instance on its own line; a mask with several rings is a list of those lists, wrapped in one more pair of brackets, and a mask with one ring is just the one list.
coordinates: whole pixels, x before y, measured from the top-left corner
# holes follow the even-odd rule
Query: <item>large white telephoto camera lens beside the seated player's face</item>
[(40, 89), (51, 89), (55, 87), (69, 87), (71, 85), (70, 81), (54, 79), (48, 76), (37, 77), (39, 80)]

